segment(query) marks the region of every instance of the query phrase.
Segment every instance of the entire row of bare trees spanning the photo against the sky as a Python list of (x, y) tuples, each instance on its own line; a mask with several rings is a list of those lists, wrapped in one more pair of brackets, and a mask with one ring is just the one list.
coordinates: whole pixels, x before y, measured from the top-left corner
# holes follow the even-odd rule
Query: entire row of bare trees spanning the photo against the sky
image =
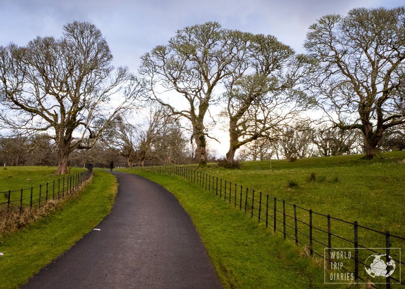
[[(403, 149), (404, 19), (404, 7), (323, 16), (309, 27), (306, 54), (272, 35), (207, 22), (145, 53), (137, 75), (112, 67), (95, 25), (73, 22), (59, 39), (0, 47), (0, 123), (15, 138), (46, 132), (58, 173), (101, 139), (128, 165), (178, 161), (190, 143), (191, 158), (205, 166), (218, 121), (229, 134), (230, 166), (237, 150), (258, 146), (290, 159), (311, 155), (309, 148), (318, 155), (356, 148), (371, 159), (381, 148)], [(145, 103), (154, 108), (146, 113)], [(131, 121), (133, 110), (149, 114), (145, 130)], [(306, 125), (315, 110), (317, 125)]]

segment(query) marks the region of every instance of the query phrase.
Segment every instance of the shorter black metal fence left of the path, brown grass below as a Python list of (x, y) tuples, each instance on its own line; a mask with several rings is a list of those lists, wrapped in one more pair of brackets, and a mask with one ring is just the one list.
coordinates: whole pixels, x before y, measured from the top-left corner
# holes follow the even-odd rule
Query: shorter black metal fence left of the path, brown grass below
[(89, 170), (59, 178), (52, 182), (32, 186), (20, 190), (8, 190), (0, 192), (5, 201), (0, 202), (0, 216), (13, 212), (23, 212), (25, 208), (30, 210), (33, 207), (41, 208), (49, 200), (55, 200), (70, 195), (80, 188), (92, 175), (93, 170)]

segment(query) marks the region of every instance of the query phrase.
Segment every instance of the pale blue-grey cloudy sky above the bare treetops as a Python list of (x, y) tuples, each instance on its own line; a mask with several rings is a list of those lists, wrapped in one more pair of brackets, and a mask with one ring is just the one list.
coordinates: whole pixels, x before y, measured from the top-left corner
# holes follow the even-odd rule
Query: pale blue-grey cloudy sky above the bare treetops
[[(141, 55), (189, 25), (218, 21), (229, 29), (272, 34), (303, 53), (309, 25), (323, 15), (402, 5), (404, 0), (0, 0), (0, 45), (59, 37), (64, 24), (89, 21), (105, 36), (114, 65), (136, 71)], [(224, 148), (218, 150), (226, 151), (222, 136)]]

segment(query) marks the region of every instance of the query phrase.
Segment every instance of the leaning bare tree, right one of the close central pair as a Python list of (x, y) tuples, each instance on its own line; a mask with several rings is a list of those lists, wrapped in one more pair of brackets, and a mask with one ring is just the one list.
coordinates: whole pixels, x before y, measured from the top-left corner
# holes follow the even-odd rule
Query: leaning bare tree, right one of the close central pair
[(309, 59), (295, 56), (289, 46), (262, 34), (251, 37), (248, 56), (247, 73), (230, 75), (224, 94), (230, 139), (226, 158), (230, 165), (240, 146), (285, 125), (306, 103), (304, 95), (294, 88), (310, 71)]

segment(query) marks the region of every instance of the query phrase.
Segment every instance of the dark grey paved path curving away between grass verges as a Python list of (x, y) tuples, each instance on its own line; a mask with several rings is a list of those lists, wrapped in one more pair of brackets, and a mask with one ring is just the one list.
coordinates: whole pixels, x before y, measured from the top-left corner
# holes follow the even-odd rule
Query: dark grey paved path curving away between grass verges
[(165, 188), (132, 174), (111, 213), (24, 288), (220, 288), (190, 217)]

